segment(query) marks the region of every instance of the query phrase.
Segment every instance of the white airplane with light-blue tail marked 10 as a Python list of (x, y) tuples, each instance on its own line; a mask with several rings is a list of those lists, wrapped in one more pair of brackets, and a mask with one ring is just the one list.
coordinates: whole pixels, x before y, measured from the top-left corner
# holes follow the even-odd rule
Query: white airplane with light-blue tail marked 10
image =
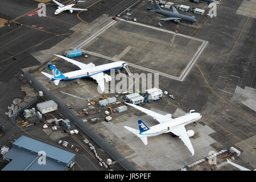
[(93, 63), (84, 64), (84, 63), (80, 63), (79, 61), (69, 59), (68, 57), (64, 57), (60, 55), (55, 55), (55, 56), (58, 56), (61, 59), (68, 61), (69, 63), (75, 64), (77, 67), (80, 68), (80, 70), (77, 70), (77, 71), (61, 73), (59, 69), (57, 69), (54, 65), (51, 65), (52, 63), (49, 62), (46, 67), (51, 68), (52, 75), (45, 72), (41, 72), (41, 73), (43, 73), (43, 75), (50, 78), (50, 80), (53, 81), (55, 85), (59, 85), (60, 81), (71, 81), (79, 78), (91, 77), (97, 81), (101, 91), (104, 92), (104, 89), (105, 89), (104, 80), (106, 82), (109, 82), (112, 80), (111, 76), (107, 74), (104, 75), (105, 72), (109, 72), (112, 69), (114, 70), (128, 69), (127, 68), (128, 65), (125, 61), (117, 61), (114, 63), (95, 66)]

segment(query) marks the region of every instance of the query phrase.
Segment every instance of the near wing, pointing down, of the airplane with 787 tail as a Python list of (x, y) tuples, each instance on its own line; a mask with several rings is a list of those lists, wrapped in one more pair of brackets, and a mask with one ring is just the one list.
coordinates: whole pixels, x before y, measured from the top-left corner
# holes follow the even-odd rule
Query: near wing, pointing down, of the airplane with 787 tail
[(184, 142), (185, 146), (188, 147), (188, 150), (192, 153), (192, 155), (195, 154), (194, 148), (188, 137), (187, 130), (185, 129), (184, 125), (177, 126), (174, 129), (171, 129), (171, 133), (177, 135), (181, 139), (181, 141)]

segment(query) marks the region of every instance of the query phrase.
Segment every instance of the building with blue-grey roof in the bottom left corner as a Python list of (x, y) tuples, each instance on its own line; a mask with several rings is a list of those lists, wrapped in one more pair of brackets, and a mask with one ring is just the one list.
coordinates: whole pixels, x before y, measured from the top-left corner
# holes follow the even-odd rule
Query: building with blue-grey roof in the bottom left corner
[[(39, 162), (41, 151), (46, 155), (45, 164)], [(75, 164), (75, 156), (72, 152), (21, 136), (3, 156), (10, 162), (2, 171), (65, 171)]]

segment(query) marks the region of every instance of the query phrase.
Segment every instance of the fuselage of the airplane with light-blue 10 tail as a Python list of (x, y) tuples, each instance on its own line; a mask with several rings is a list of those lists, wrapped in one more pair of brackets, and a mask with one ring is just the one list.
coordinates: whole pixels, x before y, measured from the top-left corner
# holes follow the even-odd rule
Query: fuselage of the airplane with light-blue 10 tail
[[(109, 72), (111, 69), (122, 69), (122, 68), (125, 68), (126, 66), (127, 66), (127, 63), (125, 61), (117, 61), (114, 63), (98, 65), (92, 68), (80, 69), (77, 71), (63, 73), (63, 75), (66, 78), (63, 78), (60, 81), (71, 81), (71, 80), (76, 80), (78, 78), (90, 77), (90, 76), (96, 75), (97, 73)], [(51, 80), (53, 81), (56, 79), (52, 78)]]

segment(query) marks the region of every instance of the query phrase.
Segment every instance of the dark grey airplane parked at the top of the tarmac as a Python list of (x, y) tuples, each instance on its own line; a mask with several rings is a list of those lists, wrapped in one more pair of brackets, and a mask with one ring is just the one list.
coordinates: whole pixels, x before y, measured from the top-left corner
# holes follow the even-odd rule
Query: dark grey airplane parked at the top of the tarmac
[(164, 16), (168, 17), (168, 18), (162, 18), (160, 20), (164, 20), (164, 21), (165, 20), (174, 20), (174, 22), (176, 22), (176, 23), (180, 23), (180, 20), (183, 20), (183, 21), (189, 22), (191, 24), (196, 22), (196, 19), (192, 16), (179, 14), (174, 6), (172, 6), (172, 12), (171, 12), (171, 11), (167, 11), (167, 10), (162, 10), (160, 8), (160, 6), (158, 5), (158, 3), (156, 3), (155, 0), (153, 0), (153, 3), (154, 3), (154, 8), (148, 9), (148, 10), (154, 11), (160, 15), (164, 15)]

